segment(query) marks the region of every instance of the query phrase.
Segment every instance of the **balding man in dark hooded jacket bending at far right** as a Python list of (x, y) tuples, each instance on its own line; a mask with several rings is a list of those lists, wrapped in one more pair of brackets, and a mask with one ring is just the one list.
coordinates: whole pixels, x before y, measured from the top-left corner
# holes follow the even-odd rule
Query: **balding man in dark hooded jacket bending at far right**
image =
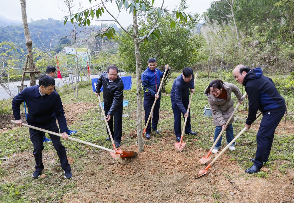
[(257, 173), (263, 162), (268, 161), (273, 144), (275, 129), (286, 111), (285, 99), (279, 94), (272, 79), (263, 75), (260, 67), (250, 70), (244, 65), (238, 65), (233, 75), (240, 84), (245, 86), (248, 94), (249, 107), (245, 127), (249, 129), (255, 120), (257, 110), (263, 113), (260, 127), (256, 135), (257, 149), (253, 166), (246, 173)]

